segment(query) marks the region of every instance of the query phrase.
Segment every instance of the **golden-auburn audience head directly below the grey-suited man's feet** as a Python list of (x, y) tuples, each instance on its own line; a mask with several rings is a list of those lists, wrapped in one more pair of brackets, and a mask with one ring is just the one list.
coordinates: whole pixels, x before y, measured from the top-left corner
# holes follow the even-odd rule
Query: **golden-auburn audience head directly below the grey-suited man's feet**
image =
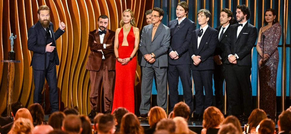
[(148, 112), (148, 124), (150, 127), (155, 126), (163, 118), (167, 118), (167, 114), (162, 107), (152, 107)]

